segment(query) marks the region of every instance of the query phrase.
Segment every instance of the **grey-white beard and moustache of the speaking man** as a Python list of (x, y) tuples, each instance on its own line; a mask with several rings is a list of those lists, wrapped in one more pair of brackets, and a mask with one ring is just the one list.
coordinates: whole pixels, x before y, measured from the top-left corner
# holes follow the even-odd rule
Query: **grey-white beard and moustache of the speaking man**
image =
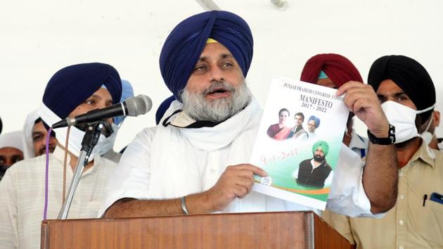
[[(231, 96), (207, 101), (205, 96), (214, 91), (216, 87), (223, 87), (226, 91), (231, 91)], [(233, 87), (228, 82), (216, 82), (202, 93), (193, 93), (185, 88), (181, 94), (181, 101), (183, 101), (183, 111), (194, 120), (221, 122), (245, 108), (250, 102), (251, 96), (252, 94), (243, 80), (238, 87)]]

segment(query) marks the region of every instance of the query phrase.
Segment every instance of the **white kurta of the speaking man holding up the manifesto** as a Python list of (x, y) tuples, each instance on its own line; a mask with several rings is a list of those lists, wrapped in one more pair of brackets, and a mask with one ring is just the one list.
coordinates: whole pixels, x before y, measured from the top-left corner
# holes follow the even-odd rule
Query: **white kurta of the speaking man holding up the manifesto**
[[(174, 101), (165, 117), (180, 107)], [(252, 101), (215, 127), (187, 129), (159, 125), (143, 129), (122, 155), (99, 215), (120, 198), (179, 198), (210, 189), (226, 166), (249, 162), (261, 115), (262, 110)], [(328, 208), (350, 216), (373, 216), (361, 183), (362, 169), (360, 158), (342, 146)], [(243, 199), (233, 200), (223, 212), (309, 209), (251, 192)]]

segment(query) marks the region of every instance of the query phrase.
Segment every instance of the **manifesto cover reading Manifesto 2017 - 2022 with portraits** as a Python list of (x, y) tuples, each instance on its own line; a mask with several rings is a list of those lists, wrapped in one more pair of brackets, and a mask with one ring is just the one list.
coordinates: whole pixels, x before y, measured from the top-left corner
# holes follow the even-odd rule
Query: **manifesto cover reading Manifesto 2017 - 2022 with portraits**
[(250, 163), (253, 190), (324, 210), (349, 108), (336, 89), (274, 77)]

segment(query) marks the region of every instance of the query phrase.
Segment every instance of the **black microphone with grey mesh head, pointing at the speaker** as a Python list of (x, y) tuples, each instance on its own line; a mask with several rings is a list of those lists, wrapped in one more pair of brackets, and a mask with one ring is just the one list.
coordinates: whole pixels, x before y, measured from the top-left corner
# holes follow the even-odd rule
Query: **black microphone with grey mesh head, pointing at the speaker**
[(52, 129), (67, 127), (71, 125), (83, 124), (86, 122), (96, 122), (105, 120), (110, 117), (131, 116), (136, 117), (141, 114), (148, 113), (153, 107), (153, 102), (146, 95), (140, 94), (132, 98), (127, 98), (126, 101), (116, 103), (113, 106), (106, 108), (90, 110), (82, 115), (75, 117), (66, 117), (52, 125)]

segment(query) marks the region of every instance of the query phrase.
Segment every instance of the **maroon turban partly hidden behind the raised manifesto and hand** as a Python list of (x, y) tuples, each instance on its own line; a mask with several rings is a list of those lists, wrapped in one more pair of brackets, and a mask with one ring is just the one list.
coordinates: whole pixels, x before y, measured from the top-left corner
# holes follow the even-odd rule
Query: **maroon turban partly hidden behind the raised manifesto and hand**
[(354, 64), (344, 56), (335, 53), (321, 53), (310, 58), (304, 64), (300, 80), (316, 84), (322, 70), (337, 87), (351, 80), (363, 82)]

